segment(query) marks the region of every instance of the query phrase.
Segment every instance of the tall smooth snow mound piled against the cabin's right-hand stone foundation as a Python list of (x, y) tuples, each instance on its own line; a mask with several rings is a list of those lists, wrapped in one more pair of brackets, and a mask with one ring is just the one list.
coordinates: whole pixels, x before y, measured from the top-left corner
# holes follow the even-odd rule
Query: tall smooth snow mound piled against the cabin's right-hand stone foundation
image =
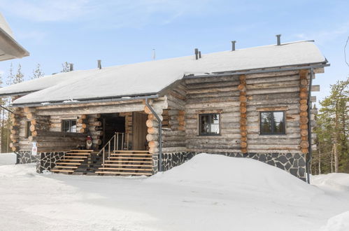
[(278, 191), (299, 195), (320, 193), (290, 173), (248, 158), (201, 153), (183, 165), (152, 176), (150, 181), (192, 184), (217, 189)]

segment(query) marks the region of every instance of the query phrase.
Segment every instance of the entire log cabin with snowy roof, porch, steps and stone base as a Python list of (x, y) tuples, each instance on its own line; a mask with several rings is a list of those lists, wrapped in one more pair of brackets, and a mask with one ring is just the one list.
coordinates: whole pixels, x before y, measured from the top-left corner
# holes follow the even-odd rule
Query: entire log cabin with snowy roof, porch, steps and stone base
[(17, 162), (36, 162), (37, 172), (150, 176), (212, 153), (259, 160), (306, 181), (316, 148), (311, 92), (319, 87), (312, 80), (327, 59), (313, 41), (234, 45), (136, 64), (99, 62), (1, 88), (1, 97), (13, 99)]

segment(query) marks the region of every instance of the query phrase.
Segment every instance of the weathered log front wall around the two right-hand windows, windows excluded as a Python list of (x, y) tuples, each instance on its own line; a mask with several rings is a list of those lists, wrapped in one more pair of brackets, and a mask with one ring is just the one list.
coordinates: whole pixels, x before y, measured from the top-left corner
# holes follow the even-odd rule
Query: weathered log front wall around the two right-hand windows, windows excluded
[[(306, 73), (302, 78), (300, 71), (283, 71), (184, 80), (187, 149), (211, 153), (305, 152), (307, 101), (300, 95), (301, 89), (308, 89), (310, 76)], [(285, 111), (286, 134), (259, 134), (260, 111)], [(200, 113), (220, 113), (220, 136), (199, 136)]]

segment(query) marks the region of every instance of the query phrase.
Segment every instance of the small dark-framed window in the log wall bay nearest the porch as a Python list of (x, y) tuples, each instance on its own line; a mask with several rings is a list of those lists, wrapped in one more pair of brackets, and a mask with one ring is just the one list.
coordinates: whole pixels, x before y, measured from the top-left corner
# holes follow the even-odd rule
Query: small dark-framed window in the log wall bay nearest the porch
[(220, 114), (199, 114), (199, 134), (214, 136), (220, 134)]

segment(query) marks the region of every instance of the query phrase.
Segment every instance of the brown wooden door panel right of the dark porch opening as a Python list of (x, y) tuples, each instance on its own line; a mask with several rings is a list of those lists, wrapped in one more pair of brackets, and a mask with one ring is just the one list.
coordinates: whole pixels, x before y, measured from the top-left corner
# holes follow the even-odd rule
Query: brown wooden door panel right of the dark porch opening
[(147, 125), (145, 125), (148, 115), (145, 113), (134, 112), (132, 119), (132, 144), (134, 150), (147, 150)]

